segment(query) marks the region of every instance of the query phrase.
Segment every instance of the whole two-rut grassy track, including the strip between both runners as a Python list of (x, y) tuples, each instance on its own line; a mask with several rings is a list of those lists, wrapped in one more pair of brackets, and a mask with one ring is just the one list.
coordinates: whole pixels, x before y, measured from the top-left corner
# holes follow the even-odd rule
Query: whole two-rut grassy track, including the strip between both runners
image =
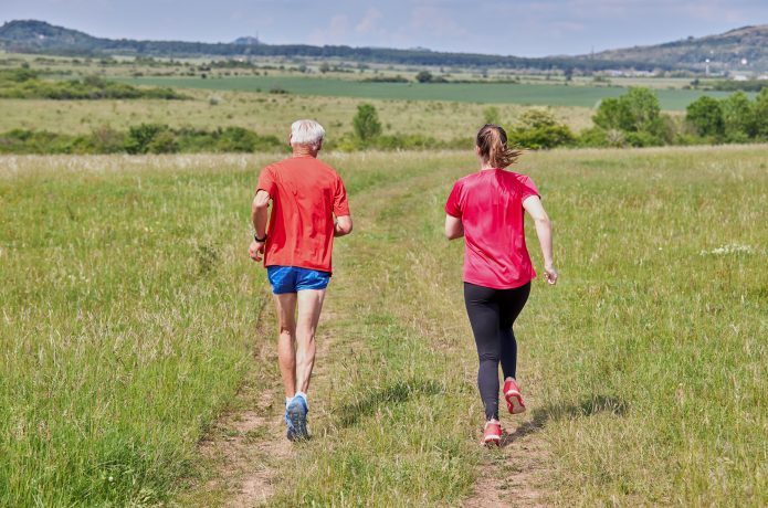
[[(211, 495), (198, 496), (185, 506), (240, 508), (259, 505), (294, 506), (312, 501), (349, 506), (390, 502), (393, 499), (400, 499), (398, 504), (402, 506), (540, 506), (546, 502), (546, 489), (543, 487), (550, 473), (549, 457), (546, 443), (537, 433), (543, 423), (537, 420), (535, 411), (526, 415), (516, 427), (509, 426), (507, 422), (508, 430), (514, 431), (512, 438), (505, 440), (505, 447), (494, 451), (480, 446), (482, 412), (474, 387), (474, 343), (462, 314), (463, 306), (455, 299), (452, 289), (448, 289), (451, 284), (440, 273), (441, 260), (434, 258), (434, 251), (439, 246), (427, 244), (433, 239), (423, 237), (423, 224), (420, 221), (429, 215), (418, 214), (420, 207), (434, 204), (425, 203), (420, 195), (442, 189), (450, 179), (450, 174), (445, 174), (440, 168), (433, 168), (432, 171), (381, 183), (376, 189), (354, 197), (357, 236), (339, 242), (339, 269), (328, 292), (316, 338), (317, 363), (309, 392), (309, 426), (315, 438), (299, 445), (292, 445), (285, 440), (282, 384), (273, 339), (274, 318), (273, 313), (267, 311), (259, 326), (257, 340), (261, 346), (257, 360), (238, 396), (235, 410), (209, 433), (210, 444), (201, 446), (203, 456), (220, 457), (215, 463), (213, 478), (198, 488), (210, 491)], [(409, 222), (409, 214), (402, 212), (410, 209), (417, 213), (418, 221)], [(429, 221), (433, 219), (430, 218)], [(391, 243), (387, 243), (392, 240), (397, 244), (394, 252), (388, 248)], [(455, 261), (450, 260), (451, 263)], [(398, 268), (396, 272), (402, 267), (407, 267), (407, 271), (391, 272), (391, 266)], [(362, 294), (368, 295), (370, 301), (362, 298)], [(376, 334), (386, 335), (385, 328), (391, 329), (393, 334), (418, 337), (414, 345), (422, 341), (432, 351), (439, 351), (453, 373), (432, 372), (431, 377), (428, 374), (430, 379), (424, 379), (427, 384), (433, 384), (422, 387), (419, 384), (422, 378), (407, 378), (412, 374), (407, 374), (406, 371), (415, 369), (415, 372), (420, 372), (420, 369), (427, 368), (429, 372), (429, 367), (407, 366), (400, 383), (393, 385), (397, 373), (387, 373), (386, 368), (380, 372), (367, 370), (370, 367), (360, 368), (354, 359), (379, 354), (371, 349), (375, 346), (367, 341)], [(264, 337), (270, 339), (264, 340)], [(394, 353), (401, 354), (397, 351)], [(358, 361), (368, 364), (366, 361), (369, 360)], [(445, 382), (449, 384), (444, 384)], [(364, 406), (353, 409), (359, 404), (355, 404), (357, 399), (346, 399), (349, 396), (348, 383), (359, 387), (359, 391), (351, 392), (361, 396), (358, 402), (366, 402), (368, 395), (376, 395), (372, 413), (360, 410)], [(367, 384), (370, 384), (372, 391), (366, 389)], [(527, 387), (535, 384), (535, 380), (529, 379), (524, 387), (530, 401), (535, 401), (536, 394)], [(406, 387), (404, 394), (396, 390), (402, 387)], [(390, 388), (394, 391), (390, 392)], [(376, 438), (390, 438), (387, 434), (398, 432), (398, 427), (403, 424), (410, 425), (410, 420), (403, 416), (406, 420), (389, 422), (388, 416), (391, 419), (393, 413), (403, 411), (403, 408), (422, 403), (417, 401), (431, 404), (431, 401), (438, 400), (432, 399), (434, 390), (439, 398), (454, 399), (449, 402), (454, 404), (452, 408), (435, 410), (434, 417), (448, 416), (455, 422), (443, 427), (449, 431), (446, 435), (440, 436), (439, 442), (430, 441), (419, 433), (408, 437), (423, 444), (401, 451), (407, 455), (403, 456), (404, 462), (400, 462), (401, 458), (393, 457), (396, 452), (377, 451), (376, 443), (355, 441), (370, 438), (370, 433), (365, 432), (371, 424), (383, 425), (382, 436), (377, 435)], [(378, 396), (382, 399), (379, 400)], [(415, 400), (409, 403), (411, 398)], [(355, 421), (347, 421), (353, 413)], [(429, 412), (425, 415), (432, 417)], [(445, 425), (444, 420), (441, 425)], [(350, 443), (350, 440), (357, 444)], [(474, 488), (471, 474), (469, 483), (465, 476), (459, 476), (457, 486), (450, 486), (444, 474), (430, 470), (420, 472), (420, 476), (413, 478), (414, 481), (422, 483), (419, 487), (380, 484), (392, 481), (391, 475), (411, 474), (408, 461), (434, 464), (429, 462), (429, 454), (445, 454), (424, 449), (424, 444), (449, 448), (457, 446), (455, 452), (449, 452), (445, 456), (464, 463), (464, 466), (455, 469), (456, 474), (463, 475), (460, 472), (467, 468), (470, 472), (474, 470)], [(351, 476), (348, 473), (344, 476), (344, 473), (333, 468), (346, 466), (344, 457), (348, 453), (361, 461), (356, 466), (361, 469)], [(392, 458), (394, 465), (391, 464)], [(368, 467), (374, 469), (367, 469)], [(382, 474), (376, 470), (377, 467), (390, 469)], [(443, 485), (430, 481), (433, 473)], [(333, 478), (333, 475), (339, 474), (340, 477)], [(320, 480), (326, 475), (332, 475), (328, 478), (329, 485), (335, 480), (338, 487), (330, 490), (329, 487), (325, 490), (323, 487), (316, 488), (315, 480)], [(379, 494), (377, 490), (380, 488), (387, 490), (387, 494)], [(410, 497), (398, 498), (399, 491)]]

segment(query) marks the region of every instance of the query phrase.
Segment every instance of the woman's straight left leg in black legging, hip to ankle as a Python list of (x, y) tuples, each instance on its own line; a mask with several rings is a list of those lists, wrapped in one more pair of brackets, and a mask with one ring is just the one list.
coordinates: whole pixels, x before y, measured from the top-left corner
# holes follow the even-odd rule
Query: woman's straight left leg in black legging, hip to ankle
[(496, 289), (464, 283), (464, 304), (477, 345), (477, 388), (485, 405), (485, 419), (498, 420), (498, 303)]

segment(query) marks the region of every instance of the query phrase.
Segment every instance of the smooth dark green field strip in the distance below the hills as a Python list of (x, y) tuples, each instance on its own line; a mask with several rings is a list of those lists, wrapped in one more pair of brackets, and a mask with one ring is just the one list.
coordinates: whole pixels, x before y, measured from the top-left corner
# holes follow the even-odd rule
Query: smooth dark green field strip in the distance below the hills
[[(297, 95), (356, 97), (366, 99), (455, 100), (481, 104), (522, 104), (539, 106), (596, 107), (600, 99), (617, 97), (627, 88), (608, 86), (564, 86), (538, 84), (420, 84), (420, 83), (362, 83), (348, 80), (304, 76), (238, 76), (217, 80), (200, 77), (136, 77), (120, 80), (135, 85), (204, 88), (214, 91), (269, 92), (282, 88)], [(709, 95), (726, 97), (724, 92), (684, 89), (655, 91), (662, 109), (682, 110), (690, 103)]]

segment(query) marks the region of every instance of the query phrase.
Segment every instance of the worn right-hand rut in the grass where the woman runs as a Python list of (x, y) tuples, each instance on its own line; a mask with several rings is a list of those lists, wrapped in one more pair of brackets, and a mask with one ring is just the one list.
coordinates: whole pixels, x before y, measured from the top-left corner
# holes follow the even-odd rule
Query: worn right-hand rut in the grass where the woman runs
[[(435, 187), (439, 188), (439, 186)], [(429, 193), (430, 190), (425, 189), (424, 192)], [(435, 197), (435, 200), (439, 199), (440, 193)], [(421, 199), (421, 201), (423, 203), (430, 200)], [(412, 210), (418, 216), (429, 216), (429, 212), (418, 211), (419, 204), (413, 198), (407, 197), (403, 202), (393, 203), (393, 207)], [(396, 227), (400, 226), (401, 224), (396, 225)], [(441, 233), (438, 236), (440, 235)], [(450, 345), (449, 349), (455, 351), (455, 359), (462, 364), (461, 370), (465, 373), (465, 382), (474, 390), (473, 395), (477, 408), (473, 408), (473, 411), (480, 414), (482, 404), (478, 401), (480, 395), (476, 393), (475, 384), (477, 353), (472, 330), (464, 314), (463, 299), (459, 293), (453, 293), (451, 289), (460, 288), (461, 285), (451, 278), (453, 275), (446, 277), (443, 271), (446, 266), (452, 267), (460, 261), (446, 254), (446, 250), (441, 250), (439, 244), (427, 247), (422, 236), (423, 232), (409, 235), (410, 241), (406, 246), (412, 271), (423, 275), (414, 281), (419, 286), (418, 296), (414, 299), (421, 303), (422, 309), (430, 309), (421, 316), (422, 319), (427, 318), (424, 322), (428, 329), (424, 334), (429, 337), (445, 337), (445, 343)], [(440, 241), (444, 242), (442, 239)], [(530, 335), (526, 330), (523, 334), (518, 332), (522, 339), (520, 347), (524, 348), (525, 341), (533, 338)], [(476, 481), (472, 494), (463, 501), (463, 506), (535, 507), (546, 506), (550, 499), (555, 468), (549, 445), (540, 434), (546, 424), (547, 414), (546, 410), (537, 408), (536, 403), (540, 399), (536, 388), (541, 384), (539, 380), (543, 369), (535, 360), (523, 358), (518, 370), (528, 411), (522, 415), (512, 416), (506, 412), (504, 399), (499, 398), (499, 413), (504, 427), (502, 446), (497, 449), (481, 451)], [(482, 421), (475, 430), (477, 443), (482, 437), (481, 428)]]

